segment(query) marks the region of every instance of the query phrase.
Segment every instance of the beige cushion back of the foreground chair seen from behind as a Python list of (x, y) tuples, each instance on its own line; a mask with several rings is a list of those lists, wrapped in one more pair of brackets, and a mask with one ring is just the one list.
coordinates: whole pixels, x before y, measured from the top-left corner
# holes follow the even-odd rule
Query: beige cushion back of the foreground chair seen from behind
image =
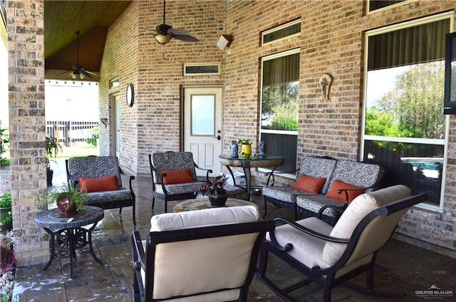
[[(259, 213), (255, 206), (167, 213), (152, 217), (151, 231), (254, 222), (258, 218)], [(244, 284), (249, 270), (257, 235), (242, 234), (158, 244), (155, 251), (153, 297), (169, 298), (221, 288), (235, 288), (220, 293), (199, 295), (195, 301), (236, 300), (240, 292), (237, 288)]]

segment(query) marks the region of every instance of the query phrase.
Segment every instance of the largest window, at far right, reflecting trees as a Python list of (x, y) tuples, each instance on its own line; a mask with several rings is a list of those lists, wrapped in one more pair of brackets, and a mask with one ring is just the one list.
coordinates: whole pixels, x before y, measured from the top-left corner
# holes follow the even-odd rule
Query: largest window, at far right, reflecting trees
[(443, 114), (445, 34), (452, 14), (366, 33), (361, 158), (386, 169), (384, 185), (425, 192), (442, 209), (448, 120)]

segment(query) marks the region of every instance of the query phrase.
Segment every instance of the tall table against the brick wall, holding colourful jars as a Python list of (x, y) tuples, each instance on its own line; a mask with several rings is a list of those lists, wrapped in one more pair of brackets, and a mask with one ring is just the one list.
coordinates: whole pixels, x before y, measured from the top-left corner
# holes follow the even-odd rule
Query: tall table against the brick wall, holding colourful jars
[(222, 154), (219, 156), (219, 161), (222, 163), (222, 165), (227, 167), (229, 173), (233, 178), (234, 185), (236, 185), (236, 180), (230, 167), (242, 167), (245, 175), (247, 193), (249, 193), (250, 196), (252, 193), (252, 178), (250, 168), (274, 167), (271, 171), (272, 173), (278, 166), (281, 166), (284, 163), (284, 156), (267, 156), (265, 158), (232, 158), (230, 155)]

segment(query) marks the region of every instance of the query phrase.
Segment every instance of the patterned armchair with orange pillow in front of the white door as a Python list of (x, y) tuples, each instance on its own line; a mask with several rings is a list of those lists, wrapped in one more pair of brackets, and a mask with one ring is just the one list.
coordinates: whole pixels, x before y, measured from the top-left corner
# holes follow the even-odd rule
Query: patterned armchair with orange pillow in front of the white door
[[(150, 173), (152, 175), (153, 197), (167, 202), (195, 198), (195, 192), (209, 182), (209, 173), (212, 170), (199, 168), (193, 161), (191, 152), (158, 152), (149, 154)], [(197, 180), (196, 169), (206, 171), (206, 180)]]

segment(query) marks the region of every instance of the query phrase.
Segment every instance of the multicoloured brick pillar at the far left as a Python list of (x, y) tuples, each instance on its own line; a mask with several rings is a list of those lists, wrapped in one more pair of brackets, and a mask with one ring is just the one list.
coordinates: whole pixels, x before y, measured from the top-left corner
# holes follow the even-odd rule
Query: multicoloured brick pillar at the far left
[(33, 220), (36, 195), (46, 189), (44, 141), (43, 1), (7, 1), (9, 133), (14, 251), (17, 265), (49, 257), (48, 234)]

